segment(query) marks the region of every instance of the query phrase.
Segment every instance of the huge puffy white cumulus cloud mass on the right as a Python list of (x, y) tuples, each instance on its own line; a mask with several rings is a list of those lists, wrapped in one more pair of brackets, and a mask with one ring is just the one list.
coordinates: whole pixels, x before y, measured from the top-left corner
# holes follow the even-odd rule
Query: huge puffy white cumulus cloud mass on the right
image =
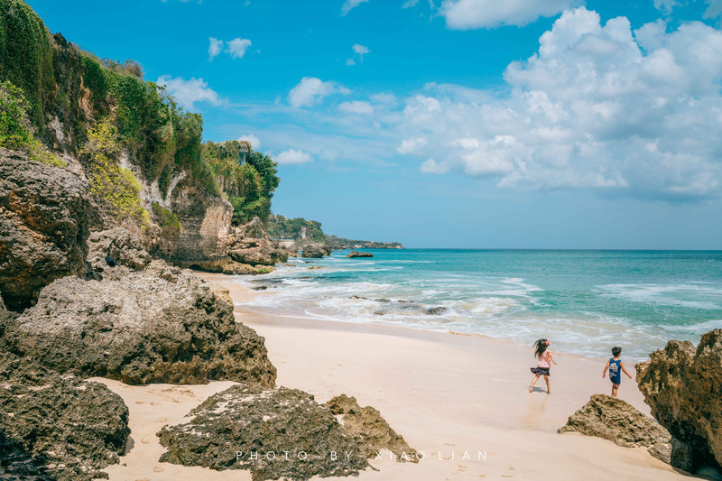
[[(504, 72), (509, 94), (430, 85), (403, 106), (399, 153), (523, 189), (596, 188), (662, 199), (720, 190), (722, 32), (632, 31), (566, 11)], [(421, 144), (416, 139), (426, 138)], [(421, 147), (423, 147), (421, 149)], [(443, 162), (443, 163), (442, 163)], [(440, 168), (440, 165), (443, 168)]]

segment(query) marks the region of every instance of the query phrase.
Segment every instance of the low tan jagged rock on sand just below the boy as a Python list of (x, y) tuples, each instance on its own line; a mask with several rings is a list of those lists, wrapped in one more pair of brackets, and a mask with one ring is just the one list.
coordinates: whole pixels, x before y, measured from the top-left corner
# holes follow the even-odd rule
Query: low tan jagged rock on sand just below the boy
[(654, 458), (673, 467), (686, 471), (695, 467), (688, 445), (673, 439), (668, 430), (628, 402), (606, 394), (594, 394), (558, 432), (579, 432), (625, 448), (646, 448)]

